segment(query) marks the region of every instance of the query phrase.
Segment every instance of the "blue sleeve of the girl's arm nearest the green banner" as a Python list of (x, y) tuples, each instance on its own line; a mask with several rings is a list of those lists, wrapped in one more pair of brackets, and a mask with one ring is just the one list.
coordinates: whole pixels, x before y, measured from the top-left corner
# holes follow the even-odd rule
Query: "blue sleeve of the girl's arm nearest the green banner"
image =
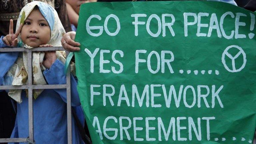
[[(66, 75), (64, 73), (64, 65), (60, 60), (56, 60), (50, 69), (46, 69), (43, 72), (46, 81), (48, 84), (66, 84)], [(77, 81), (71, 75), (70, 76), (71, 83), (71, 105), (79, 106), (81, 105), (80, 99), (77, 92)], [(67, 90), (66, 89), (54, 89), (64, 102), (67, 102)]]

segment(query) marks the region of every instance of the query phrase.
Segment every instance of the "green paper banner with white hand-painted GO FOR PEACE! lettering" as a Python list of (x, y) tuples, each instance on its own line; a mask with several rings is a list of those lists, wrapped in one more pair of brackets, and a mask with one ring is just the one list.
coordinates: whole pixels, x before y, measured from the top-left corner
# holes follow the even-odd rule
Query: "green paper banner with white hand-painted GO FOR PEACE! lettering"
[(247, 144), (255, 13), (222, 2), (87, 3), (75, 52), (94, 144)]

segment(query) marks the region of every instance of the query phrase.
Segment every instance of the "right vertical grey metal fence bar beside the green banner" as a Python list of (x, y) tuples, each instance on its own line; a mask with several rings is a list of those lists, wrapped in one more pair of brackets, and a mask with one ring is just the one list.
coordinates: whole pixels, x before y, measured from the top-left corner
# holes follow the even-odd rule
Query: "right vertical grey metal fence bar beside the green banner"
[[(66, 52), (66, 57), (69, 52)], [(67, 119), (68, 119), (68, 144), (72, 144), (72, 119), (71, 119), (71, 89), (70, 89), (70, 66), (66, 73), (67, 85)]]

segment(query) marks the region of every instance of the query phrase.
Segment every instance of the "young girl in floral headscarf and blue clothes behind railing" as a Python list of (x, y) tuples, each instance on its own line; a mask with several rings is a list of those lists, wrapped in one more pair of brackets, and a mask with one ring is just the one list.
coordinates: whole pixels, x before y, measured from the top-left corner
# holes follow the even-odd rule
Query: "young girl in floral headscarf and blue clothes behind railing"
[[(33, 1), (20, 12), (17, 31), (13, 34), (10, 21), (9, 34), (0, 38), (0, 47), (25, 48), (61, 46), (65, 33), (57, 12), (48, 4)], [(0, 85), (26, 85), (26, 53), (0, 54)], [(33, 52), (33, 84), (65, 84), (63, 57), (60, 52)], [(77, 82), (71, 76), (71, 105), (82, 114), (77, 93)], [(8, 95), (17, 103), (17, 116), (11, 138), (27, 138), (28, 98), (25, 90), (10, 90)], [(33, 90), (34, 140), (37, 144), (67, 143), (67, 108), (65, 89)], [(83, 115), (79, 115), (83, 123)], [(72, 143), (83, 143), (72, 117)]]

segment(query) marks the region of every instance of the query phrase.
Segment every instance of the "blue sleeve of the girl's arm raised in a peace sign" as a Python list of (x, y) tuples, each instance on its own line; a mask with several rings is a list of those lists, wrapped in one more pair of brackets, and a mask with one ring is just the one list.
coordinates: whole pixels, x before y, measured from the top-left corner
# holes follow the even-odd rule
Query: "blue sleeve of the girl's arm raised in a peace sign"
[[(0, 38), (0, 47), (9, 47), (4, 44), (3, 36)], [(15, 63), (19, 55), (19, 52), (0, 52), (0, 85), (3, 84), (4, 75), (9, 71), (12, 65)]]

